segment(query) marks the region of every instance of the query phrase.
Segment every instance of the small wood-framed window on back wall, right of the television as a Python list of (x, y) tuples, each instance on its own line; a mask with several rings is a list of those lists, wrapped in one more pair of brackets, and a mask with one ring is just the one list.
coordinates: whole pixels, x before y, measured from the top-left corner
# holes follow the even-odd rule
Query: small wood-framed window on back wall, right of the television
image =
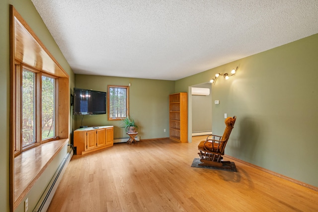
[(108, 120), (121, 120), (129, 116), (129, 86), (108, 85)]

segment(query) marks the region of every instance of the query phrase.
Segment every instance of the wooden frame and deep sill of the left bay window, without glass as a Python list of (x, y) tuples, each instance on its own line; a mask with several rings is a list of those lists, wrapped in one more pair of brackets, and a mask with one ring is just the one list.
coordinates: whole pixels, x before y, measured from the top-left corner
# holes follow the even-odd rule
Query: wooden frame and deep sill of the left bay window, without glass
[[(31, 27), (26, 23), (22, 16), (10, 5), (9, 17), (9, 32), (10, 32), (10, 133), (9, 133), (9, 201), (10, 211), (17, 209), (19, 204), (26, 197), (35, 182), (40, 178), (44, 170), (48, 167), (49, 163), (61, 151), (62, 146), (69, 142), (70, 137), (70, 85), (69, 75), (56, 61), (52, 54), (46, 49), (41, 40), (36, 36)], [(24, 45), (27, 43), (28, 45)], [(16, 149), (21, 149), (21, 125), (19, 117), (21, 116), (21, 75), (16, 73), (16, 70), (22, 71), (22, 66), (32, 69), (33, 71), (40, 70), (41, 74), (56, 77), (56, 141), (44, 144), (50, 141), (43, 140), (43, 145), (34, 146), (35, 151), (20, 152), (15, 155)], [(21, 72), (20, 71), (20, 72)], [(21, 72), (22, 73), (22, 72)], [(41, 83), (41, 77), (40, 77)], [(39, 95), (39, 94), (37, 94)], [(40, 107), (39, 107), (40, 108)], [(39, 111), (39, 110), (38, 110)], [(38, 113), (37, 111), (37, 113)], [(42, 113), (42, 111), (40, 111)], [(41, 125), (38, 125), (41, 128)], [(37, 134), (40, 131), (37, 132)], [(53, 139), (54, 140), (54, 139)], [(53, 152), (41, 151), (42, 146), (48, 146), (50, 143), (57, 145)], [(33, 152), (41, 152), (40, 154), (32, 154)], [(30, 154), (29, 154), (30, 153)], [(24, 155), (25, 154), (25, 155)], [(42, 157), (44, 154), (44, 158)], [(28, 156), (26, 156), (28, 155)], [(46, 158), (46, 155), (50, 155)], [(35, 162), (34, 166), (24, 166), (22, 157), (32, 159)], [(18, 158), (18, 160), (15, 160)], [(43, 161), (43, 160), (44, 161)], [(38, 162), (42, 161), (42, 162)], [(30, 175), (23, 176), (15, 172), (15, 169), (25, 167), (23, 173), (31, 173)], [(23, 185), (22, 185), (23, 184)]]

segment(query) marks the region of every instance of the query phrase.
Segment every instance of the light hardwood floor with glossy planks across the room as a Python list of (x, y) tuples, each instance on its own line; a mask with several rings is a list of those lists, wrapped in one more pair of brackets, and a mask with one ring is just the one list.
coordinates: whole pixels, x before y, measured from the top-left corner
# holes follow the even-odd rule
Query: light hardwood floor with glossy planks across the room
[(318, 211), (318, 192), (238, 161), (231, 160), (238, 172), (191, 167), (202, 138), (115, 143), (74, 155), (48, 211)]

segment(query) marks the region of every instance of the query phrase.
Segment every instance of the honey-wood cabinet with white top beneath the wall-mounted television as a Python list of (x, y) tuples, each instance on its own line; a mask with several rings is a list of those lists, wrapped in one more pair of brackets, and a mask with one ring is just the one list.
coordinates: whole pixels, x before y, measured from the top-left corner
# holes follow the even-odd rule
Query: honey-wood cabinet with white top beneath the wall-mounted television
[(86, 154), (113, 145), (113, 126), (80, 128), (74, 131), (76, 154)]

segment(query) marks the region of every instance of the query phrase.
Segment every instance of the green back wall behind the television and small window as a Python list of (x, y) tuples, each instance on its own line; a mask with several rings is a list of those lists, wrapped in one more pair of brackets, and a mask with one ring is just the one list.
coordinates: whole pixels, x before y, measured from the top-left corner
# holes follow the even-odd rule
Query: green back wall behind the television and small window
[[(107, 92), (107, 85), (129, 87), (129, 113), (137, 125), (141, 140), (169, 137), (168, 95), (174, 92), (174, 81), (76, 74), (76, 87)], [(122, 121), (107, 121), (105, 115), (74, 116), (75, 129), (81, 126), (114, 126), (114, 139), (127, 138)], [(163, 132), (166, 129), (166, 132)]]

